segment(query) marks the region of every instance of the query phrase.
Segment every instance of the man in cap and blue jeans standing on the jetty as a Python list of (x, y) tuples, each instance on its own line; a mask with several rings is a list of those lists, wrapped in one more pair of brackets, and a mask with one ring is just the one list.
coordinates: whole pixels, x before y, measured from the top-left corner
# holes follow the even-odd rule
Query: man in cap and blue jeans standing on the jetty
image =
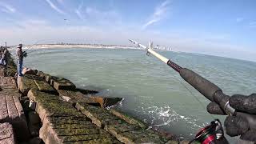
[(23, 64), (23, 52), (22, 52), (22, 44), (19, 44), (16, 49), (16, 58), (17, 58), (17, 71), (18, 76), (22, 77), (22, 64)]

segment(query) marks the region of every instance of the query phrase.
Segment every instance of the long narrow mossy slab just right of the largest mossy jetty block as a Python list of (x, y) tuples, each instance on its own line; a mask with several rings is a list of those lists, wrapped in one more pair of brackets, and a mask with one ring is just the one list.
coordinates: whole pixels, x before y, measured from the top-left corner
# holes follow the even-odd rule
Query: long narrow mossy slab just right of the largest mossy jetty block
[(107, 110), (86, 103), (76, 103), (76, 108), (99, 127), (104, 128), (124, 143), (165, 143), (167, 140), (153, 131), (144, 130), (138, 124), (130, 124)]

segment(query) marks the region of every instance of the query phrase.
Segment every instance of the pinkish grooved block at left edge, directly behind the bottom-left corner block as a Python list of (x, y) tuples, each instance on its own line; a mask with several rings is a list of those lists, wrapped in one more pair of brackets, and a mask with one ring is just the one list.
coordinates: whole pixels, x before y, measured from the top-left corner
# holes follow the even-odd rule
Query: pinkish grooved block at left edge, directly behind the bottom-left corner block
[(29, 137), (25, 114), (17, 96), (0, 95), (0, 122), (10, 122), (18, 140), (26, 141)]

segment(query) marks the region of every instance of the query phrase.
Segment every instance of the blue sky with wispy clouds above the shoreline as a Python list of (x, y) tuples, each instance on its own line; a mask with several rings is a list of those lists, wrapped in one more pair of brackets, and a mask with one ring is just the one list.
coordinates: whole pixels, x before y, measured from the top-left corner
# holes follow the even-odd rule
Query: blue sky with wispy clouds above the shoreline
[(254, 0), (0, 0), (0, 45), (142, 44), (256, 62)]

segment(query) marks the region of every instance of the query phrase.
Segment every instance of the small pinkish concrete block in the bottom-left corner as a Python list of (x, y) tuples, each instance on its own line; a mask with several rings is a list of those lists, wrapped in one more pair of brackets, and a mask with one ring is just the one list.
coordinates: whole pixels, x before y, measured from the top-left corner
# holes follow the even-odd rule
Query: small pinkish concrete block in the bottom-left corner
[(2, 144), (15, 144), (14, 129), (10, 123), (0, 123), (0, 143)]

